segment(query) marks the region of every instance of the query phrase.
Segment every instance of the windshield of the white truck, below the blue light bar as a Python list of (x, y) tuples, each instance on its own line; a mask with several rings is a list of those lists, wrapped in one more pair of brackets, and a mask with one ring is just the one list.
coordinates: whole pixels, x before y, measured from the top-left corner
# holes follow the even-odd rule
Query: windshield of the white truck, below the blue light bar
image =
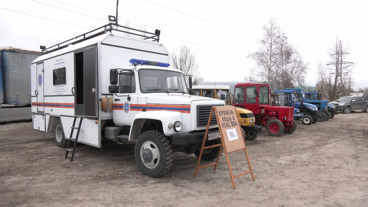
[(168, 70), (138, 70), (139, 85), (142, 93), (188, 93), (182, 73)]

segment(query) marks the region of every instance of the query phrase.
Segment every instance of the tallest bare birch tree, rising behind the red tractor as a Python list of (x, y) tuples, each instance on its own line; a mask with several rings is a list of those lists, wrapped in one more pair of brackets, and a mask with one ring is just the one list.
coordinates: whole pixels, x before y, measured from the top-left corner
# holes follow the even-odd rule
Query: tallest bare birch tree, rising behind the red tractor
[(270, 18), (268, 25), (263, 25), (263, 30), (265, 31), (264, 37), (259, 41), (261, 47), (259, 50), (250, 53), (248, 58), (256, 62), (255, 75), (261, 81), (265, 81), (271, 85), (276, 64), (280, 58), (277, 51), (277, 41), (280, 38), (281, 32), (275, 18)]

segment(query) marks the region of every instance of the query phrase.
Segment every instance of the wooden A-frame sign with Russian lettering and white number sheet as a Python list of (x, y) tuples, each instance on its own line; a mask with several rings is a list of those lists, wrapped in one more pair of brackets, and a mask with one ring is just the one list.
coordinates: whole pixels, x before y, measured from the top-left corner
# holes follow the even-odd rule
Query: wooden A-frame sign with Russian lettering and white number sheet
[[(212, 116), (210, 116), (208, 119), (208, 123), (207, 123), (206, 133), (203, 138), (201, 152), (199, 153), (197, 167), (195, 168), (194, 177), (197, 176), (198, 169), (215, 166), (213, 171), (216, 171), (217, 164), (219, 163), (221, 149), (223, 147), (224, 152), (225, 152), (226, 161), (227, 161), (227, 166), (229, 167), (231, 182), (233, 183), (233, 188), (236, 189), (234, 178), (238, 178), (242, 175), (251, 173), (252, 180), (254, 181), (254, 174), (253, 174), (251, 163), (249, 161), (247, 147), (245, 146), (245, 140), (243, 137), (243, 133), (241, 133), (241, 128), (240, 128), (240, 124), (238, 121), (238, 117), (236, 115), (235, 106), (213, 106), (211, 109), (210, 115), (212, 115), (213, 112), (215, 112), (217, 124), (219, 125), (221, 143), (205, 147), (205, 142), (207, 140), (207, 135), (208, 135), (208, 129), (209, 129), (209, 125), (210, 125), (211, 118), (212, 118)], [(201, 162), (203, 150), (214, 148), (214, 147), (220, 147), (216, 162), (199, 166)], [(231, 152), (239, 151), (239, 150), (244, 150), (245, 152), (245, 157), (247, 158), (249, 171), (243, 172), (243, 173), (240, 173), (234, 176), (233, 171), (231, 170), (228, 154)]]

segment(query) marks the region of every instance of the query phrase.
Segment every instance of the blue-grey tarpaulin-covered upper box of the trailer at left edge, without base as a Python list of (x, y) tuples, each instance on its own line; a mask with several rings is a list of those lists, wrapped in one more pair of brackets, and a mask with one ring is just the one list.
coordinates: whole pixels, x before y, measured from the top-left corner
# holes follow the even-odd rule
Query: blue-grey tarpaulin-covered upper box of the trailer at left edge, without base
[(0, 103), (31, 104), (31, 62), (40, 55), (34, 50), (0, 48)]

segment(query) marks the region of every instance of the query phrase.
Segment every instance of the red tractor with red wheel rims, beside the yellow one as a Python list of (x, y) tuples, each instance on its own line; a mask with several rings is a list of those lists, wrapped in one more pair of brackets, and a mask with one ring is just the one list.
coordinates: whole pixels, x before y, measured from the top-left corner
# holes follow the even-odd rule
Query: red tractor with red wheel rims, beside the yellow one
[(235, 86), (232, 105), (251, 110), (256, 124), (266, 126), (270, 136), (293, 133), (297, 123), (293, 119), (294, 108), (271, 106), (269, 85), (240, 83)]

